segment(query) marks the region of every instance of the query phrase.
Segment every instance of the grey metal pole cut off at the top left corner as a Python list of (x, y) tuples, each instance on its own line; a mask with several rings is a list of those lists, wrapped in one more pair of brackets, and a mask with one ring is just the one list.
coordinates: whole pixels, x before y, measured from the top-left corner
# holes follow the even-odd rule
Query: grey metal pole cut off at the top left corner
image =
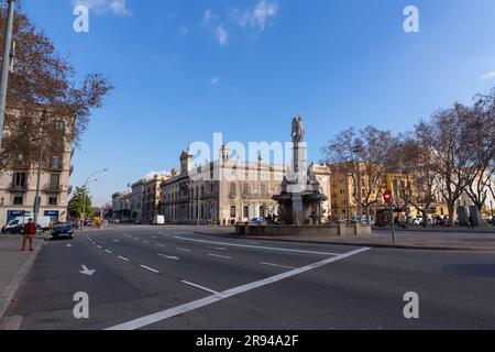
[(9, 10), (7, 16), (7, 28), (6, 36), (3, 43), (3, 58), (2, 58), (2, 69), (0, 76), (0, 148), (3, 143), (3, 125), (6, 124), (6, 110), (7, 110), (7, 88), (9, 87), (9, 70), (11, 68), (11, 50), (12, 50), (12, 32), (13, 32), (13, 20), (14, 20), (14, 9), (15, 1), (9, 1)]

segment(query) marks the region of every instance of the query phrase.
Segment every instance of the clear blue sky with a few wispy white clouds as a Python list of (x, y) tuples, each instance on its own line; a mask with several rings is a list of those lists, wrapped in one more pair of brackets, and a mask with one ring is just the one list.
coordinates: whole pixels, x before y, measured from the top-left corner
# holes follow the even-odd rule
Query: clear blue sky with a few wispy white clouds
[[(90, 9), (89, 33), (73, 9)], [(420, 13), (405, 33), (404, 8)], [(79, 74), (117, 89), (95, 111), (72, 184), (97, 204), (151, 170), (178, 166), (188, 143), (286, 141), (301, 113), (309, 157), (337, 132), (394, 132), (495, 86), (493, 0), (24, 0)]]

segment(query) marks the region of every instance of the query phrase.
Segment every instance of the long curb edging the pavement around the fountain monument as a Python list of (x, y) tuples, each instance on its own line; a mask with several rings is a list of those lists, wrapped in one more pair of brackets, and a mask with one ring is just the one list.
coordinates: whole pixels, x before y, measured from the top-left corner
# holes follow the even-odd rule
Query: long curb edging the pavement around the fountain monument
[(385, 243), (346, 243), (346, 242), (329, 242), (329, 241), (310, 241), (299, 239), (277, 239), (277, 238), (261, 238), (261, 237), (245, 237), (233, 234), (220, 234), (220, 233), (207, 233), (198, 232), (197, 234), (213, 235), (227, 239), (242, 239), (242, 240), (260, 240), (260, 241), (273, 241), (273, 242), (293, 242), (293, 243), (309, 243), (309, 244), (330, 244), (330, 245), (348, 245), (348, 246), (370, 246), (375, 249), (391, 249), (391, 250), (414, 250), (414, 251), (442, 251), (442, 252), (495, 252), (495, 248), (470, 248), (470, 246), (427, 246), (427, 245), (400, 245), (400, 244), (385, 244)]

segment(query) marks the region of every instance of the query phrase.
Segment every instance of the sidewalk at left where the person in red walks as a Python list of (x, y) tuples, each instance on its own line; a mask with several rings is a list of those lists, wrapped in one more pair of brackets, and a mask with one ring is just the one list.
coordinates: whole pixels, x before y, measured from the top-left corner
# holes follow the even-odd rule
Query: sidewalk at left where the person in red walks
[(34, 252), (20, 252), (22, 237), (0, 235), (0, 320), (9, 307), (19, 286), (25, 279), (30, 268), (43, 245), (44, 239), (34, 240)]

